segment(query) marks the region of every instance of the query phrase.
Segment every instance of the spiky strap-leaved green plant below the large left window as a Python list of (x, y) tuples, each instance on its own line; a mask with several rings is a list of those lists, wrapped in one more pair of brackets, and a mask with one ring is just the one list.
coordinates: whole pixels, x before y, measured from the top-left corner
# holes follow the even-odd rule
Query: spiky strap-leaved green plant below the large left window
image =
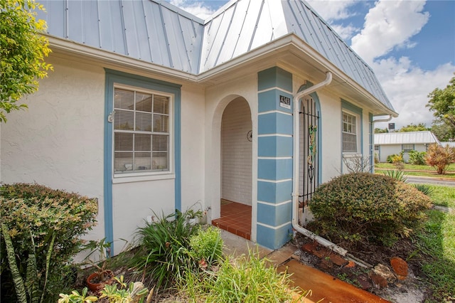
[(154, 215), (154, 222), (137, 230), (139, 249), (131, 266), (154, 280), (159, 288), (167, 287), (186, 267), (196, 266), (189, 255), (189, 241), (199, 225), (187, 224), (186, 213), (180, 211), (168, 216)]

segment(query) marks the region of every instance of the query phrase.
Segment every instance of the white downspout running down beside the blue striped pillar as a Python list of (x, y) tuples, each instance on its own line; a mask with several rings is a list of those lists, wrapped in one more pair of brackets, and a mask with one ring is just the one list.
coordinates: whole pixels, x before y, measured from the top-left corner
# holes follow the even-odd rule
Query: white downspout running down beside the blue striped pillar
[(329, 85), (332, 81), (332, 73), (326, 73), (326, 80), (323, 80), (321, 83), (313, 85), (306, 90), (302, 90), (301, 92), (296, 92), (294, 95), (294, 167), (293, 167), (293, 188), (294, 191), (292, 193), (292, 227), (298, 231), (299, 233), (306, 235), (306, 237), (316, 240), (321, 245), (325, 246), (326, 248), (330, 248), (331, 250), (338, 252), (338, 254), (346, 256), (348, 253), (347, 250), (341, 248), (340, 246), (331, 243), (329, 240), (320, 237), (311, 231), (301, 227), (299, 225), (299, 154), (300, 154), (300, 146), (299, 146), (299, 129), (300, 129), (300, 121), (299, 121), (299, 110), (300, 110), (300, 99), (305, 95), (311, 94), (311, 92), (316, 92), (319, 88)]

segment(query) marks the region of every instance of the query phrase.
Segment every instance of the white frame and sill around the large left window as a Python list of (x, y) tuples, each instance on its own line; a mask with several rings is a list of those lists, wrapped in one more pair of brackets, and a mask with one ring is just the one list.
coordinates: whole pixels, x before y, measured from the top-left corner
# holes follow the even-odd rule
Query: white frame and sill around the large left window
[[(113, 174), (113, 183), (123, 183), (123, 182), (132, 182), (132, 181), (149, 181), (149, 180), (159, 180), (159, 179), (174, 179), (175, 172), (174, 172), (174, 153), (173, 153), (173, 143), (175, 139), (175, 132), (173, 129), (173, 117), (174, 117), (174, 95), (169, 94), (167, 92), (161, 92), (159, 90), (148, 90), (143, 87), (137, 87), (132, 85), (124, 85), (119, 83), (114, 83), (114, 87), (112, 87), (113, 94), (112, 94), (112, 108), (114, 109), (114, 96), (115, 90), (132, 90), (134, 92), (140, 92), (145, 94), (153, 94), (159, 95), (163, 97), (169, 98), (169, 108), (168, 108), (168, 169), (166, 170), (147, 170), (147, 171), (134, 171), (134, 172), (116, 172), (114, 163), (115, 163), (115, 129), (114, 123), (112, 123), (112, 174)], [(114, 119), (115, 119), (115, 112), (114, 112)], [(153, 158), (152, 158), (153, 159)]]

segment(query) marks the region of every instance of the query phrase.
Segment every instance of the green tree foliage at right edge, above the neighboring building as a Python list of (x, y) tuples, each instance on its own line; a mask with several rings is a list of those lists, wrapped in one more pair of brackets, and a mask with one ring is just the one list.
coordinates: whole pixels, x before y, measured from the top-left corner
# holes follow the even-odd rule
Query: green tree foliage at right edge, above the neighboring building
[(446, 88), (443, 90), (436, 88), (428, 97), (430, 100), (426, 106), (434, 112), (434, 117), (443, 119), (455, 127), (455, 77), (451, 78)]

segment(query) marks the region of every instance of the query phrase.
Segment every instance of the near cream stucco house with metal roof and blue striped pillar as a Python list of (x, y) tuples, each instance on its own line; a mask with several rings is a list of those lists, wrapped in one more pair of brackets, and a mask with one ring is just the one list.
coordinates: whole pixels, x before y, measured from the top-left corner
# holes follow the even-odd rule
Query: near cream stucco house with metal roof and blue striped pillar
[[(232, 0), (202, 20), (166, 1), (42, 0), (54, 71), (1, 124), (4, 183), (99, 201), (90, 238), (156, 213), (250, 205), (251, 240), (289, 240), (297, 203), (370, 156), (397, 116), (373, 70), (305, 1)], [(294, 224), (294, 225), (293, 225)]]

